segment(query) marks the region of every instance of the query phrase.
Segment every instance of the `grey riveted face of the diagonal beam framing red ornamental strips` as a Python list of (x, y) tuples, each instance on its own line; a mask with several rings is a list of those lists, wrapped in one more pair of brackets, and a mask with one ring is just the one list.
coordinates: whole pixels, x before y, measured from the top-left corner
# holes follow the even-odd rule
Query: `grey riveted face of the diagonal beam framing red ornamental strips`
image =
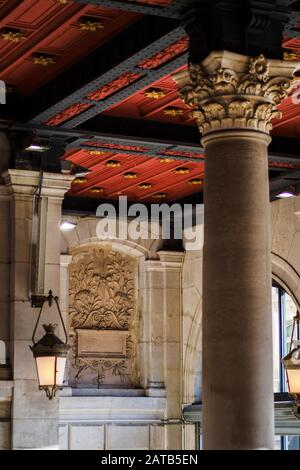
[[(58, 113), (64, 111), (72, 104), (78, 102), (93, 106), (87, 109), (86, 111), (82, 112), (81, 114), (75, 116), (74, 118), (69, 119), (65, 123), (62, 123), (60, 127), (72, 129), (76, 126), (79, 126), (83, 122), (90, 120), (91, 118), (102, 113), (112, 105), (131, 96), (139, 89), (151, 85), (154, 81), (160, 79), (164, 75), (167, 75), (176, 68), (185, 65), (187, 63), (187, 54), (182, 54), (175, 57), (173, 60), (168, 61), (165, 65), (162, 65), (158, 69), (143, 69), (138, 67), (140, 61), (153, 56), (154, 54), (162, 51), (164, 48), (184, 38), (185, 36), (186, 33), (181, 27), (174, 29), (173, 31), (154, 41), (147, 47), (129, 56), (126, 60), (123, 60), (121, 63), (118, 63), (108, 71), (99, 74), (98, 77), (94, 80), (90, 81), (89, 83), (86, 83), (75, 92), (61, 99), (55, 105), (50, 106), (47, 110), (35, 116), (33, 119), (30, 120), (30, 123), (42, 124), (51, 119), (53, 116), (57, 115)], [(104, 60), (103, 56), (101, 60)], [(120, 89), (112, 95), (107, 96), (107, 98), (104, 98), (101, 101), (92, 101), (86, 98), (86, 96), (90, 92), (93, 92), (101, 88), (102, 86), (109, 84), (114, 79), (117, 79), (120, 75), (126, 72), (138, 73), (141, 75), (141, 78), (136, 80), (133, 84)]]

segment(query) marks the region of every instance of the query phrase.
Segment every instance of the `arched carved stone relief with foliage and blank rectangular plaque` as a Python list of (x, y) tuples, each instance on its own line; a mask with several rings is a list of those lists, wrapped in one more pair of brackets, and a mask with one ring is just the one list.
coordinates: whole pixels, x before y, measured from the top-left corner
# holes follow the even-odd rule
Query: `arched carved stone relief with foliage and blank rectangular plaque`
[(69, 383), (138, 385), (137, 260), (109, 245), (76, 251), (69, 267)]

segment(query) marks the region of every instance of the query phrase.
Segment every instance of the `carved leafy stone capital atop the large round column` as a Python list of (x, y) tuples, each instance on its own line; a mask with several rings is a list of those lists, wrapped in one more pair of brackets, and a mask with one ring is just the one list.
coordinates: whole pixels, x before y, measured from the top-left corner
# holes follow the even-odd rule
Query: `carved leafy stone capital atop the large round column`
[(192, 108), (200, 132), (252, 129), (268, 133), (277, 106), (290, 91), (300, 64), (212, 52), (201, 64), (173, 75), (181, 98)]

